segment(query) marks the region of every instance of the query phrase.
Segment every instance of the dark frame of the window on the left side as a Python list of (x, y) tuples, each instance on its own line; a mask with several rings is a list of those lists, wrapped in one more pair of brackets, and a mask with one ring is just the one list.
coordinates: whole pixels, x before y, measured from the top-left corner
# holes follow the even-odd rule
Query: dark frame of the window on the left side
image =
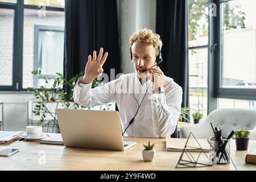
[[(13, 83), (11, 86), (0, 85), (0, 92), (1, 91), (27, 91), (27, 89), (23, 88), (23, 83), (22, 83), (24, 9), (40, 10), (42, 9), (42, 7), (37, 5), (24, 5), (24, 0), (17, 0), (16, 3), (0, 2), (0, 8), (14, 10)], [(46, 10), (64, 12), (64, 7), (46, 6)]]

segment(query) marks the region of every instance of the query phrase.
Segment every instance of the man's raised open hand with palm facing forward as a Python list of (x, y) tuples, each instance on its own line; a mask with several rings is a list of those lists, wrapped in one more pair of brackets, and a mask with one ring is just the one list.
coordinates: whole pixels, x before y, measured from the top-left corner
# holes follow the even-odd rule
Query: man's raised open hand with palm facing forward
[(82, 78), (82, 84), (90, 84), (93, 82), (94, 78), (98, 78), (102, 75), (102, 65), (108, 57), (108, 52), (106, 52), (102, 57), (103, 51), (103, 48), (101, 48), (98, 57), (96, 51), (93, 51), (93, 58), (91, 55), (88, 56), (88, 61), (84, 71), (85, 75), (84, 78)]

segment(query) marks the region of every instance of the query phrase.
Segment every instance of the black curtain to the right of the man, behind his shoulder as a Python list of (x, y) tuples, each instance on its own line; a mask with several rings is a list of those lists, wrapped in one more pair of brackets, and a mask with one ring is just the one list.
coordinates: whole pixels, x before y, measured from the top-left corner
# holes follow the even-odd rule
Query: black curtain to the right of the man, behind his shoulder
[[(156, 1), (156, 33), (163, 42), (160, 68), (182, 87), (183, 107), (189, 105), (187, 23), (187, 0)], [(171, 137), (177, 138), (177, 127)]]

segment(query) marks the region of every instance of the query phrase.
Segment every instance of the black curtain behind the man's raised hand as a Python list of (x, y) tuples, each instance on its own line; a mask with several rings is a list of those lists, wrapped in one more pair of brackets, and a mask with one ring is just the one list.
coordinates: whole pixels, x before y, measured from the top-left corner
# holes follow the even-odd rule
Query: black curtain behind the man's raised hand
[(116, 0), (66, 0), (65, 77), (84, 71), (88, 55), (101, 47), (109, 53), (103, 69), (110, 79), (110, 69), (115, 75), (121, 69)]

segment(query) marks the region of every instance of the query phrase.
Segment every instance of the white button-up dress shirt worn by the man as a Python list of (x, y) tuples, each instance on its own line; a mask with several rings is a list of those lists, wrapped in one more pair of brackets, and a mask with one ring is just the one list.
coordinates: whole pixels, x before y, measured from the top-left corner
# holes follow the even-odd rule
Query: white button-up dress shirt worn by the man
[(93, 89), (92, 84), (81, 84), (81, 80), (82, 77), (75, 86), (74, 101), (85, 107), (116, 102), (122, 131), (129, 125), (137, 111), (138, 103), (141, 104), (146, 93), (133, 124), (128, 127), (124, 136), (165, 138), (174, 133), (183, 92), (172, 78), (163, 76), (164, 93), (154, 93), (151, 80), (141, 85), (137, 73), (121, 75), (118, 79)]

